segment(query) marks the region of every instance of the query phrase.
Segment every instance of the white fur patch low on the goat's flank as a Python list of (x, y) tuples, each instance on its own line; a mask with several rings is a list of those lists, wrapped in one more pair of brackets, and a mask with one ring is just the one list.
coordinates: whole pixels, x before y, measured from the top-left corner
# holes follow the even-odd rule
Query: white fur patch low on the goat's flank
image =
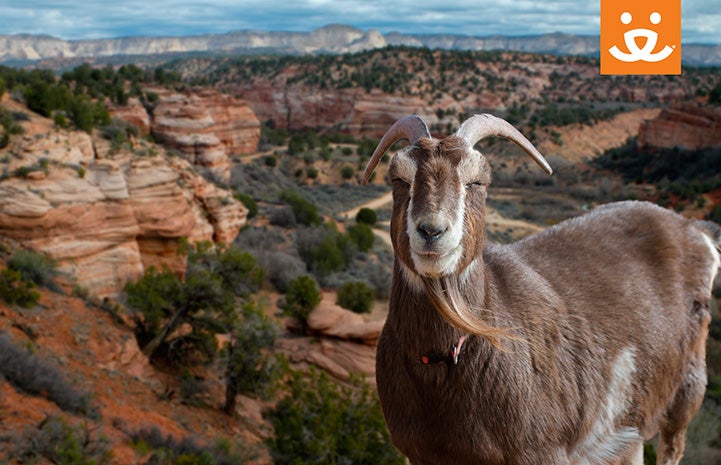
[(593, 428), (571, 454), (571, 463), (607, 464), (631, 444), (642, 441), (638, 429), (616, 428), (616, 421), (623, 417), (631, 400), (629, 396), (631, 377), (636, 372), (635, 359), (633, 347), (624, 349), (616, 357), (605, 402)]

